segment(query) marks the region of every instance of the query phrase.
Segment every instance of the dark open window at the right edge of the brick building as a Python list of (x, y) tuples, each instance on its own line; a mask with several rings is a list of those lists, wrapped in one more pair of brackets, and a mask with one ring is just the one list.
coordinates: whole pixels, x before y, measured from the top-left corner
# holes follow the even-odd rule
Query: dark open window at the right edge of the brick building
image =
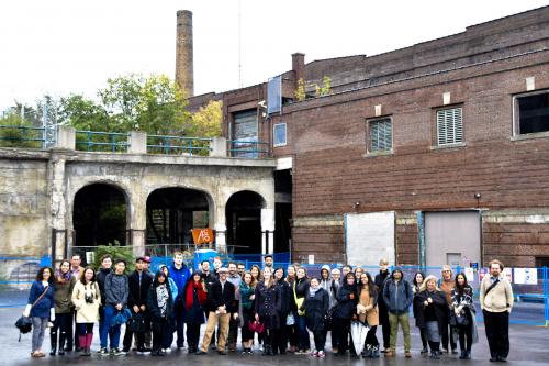
[(549, 91), (538, 91), (514, 98), (515, 134), (549, 131)]

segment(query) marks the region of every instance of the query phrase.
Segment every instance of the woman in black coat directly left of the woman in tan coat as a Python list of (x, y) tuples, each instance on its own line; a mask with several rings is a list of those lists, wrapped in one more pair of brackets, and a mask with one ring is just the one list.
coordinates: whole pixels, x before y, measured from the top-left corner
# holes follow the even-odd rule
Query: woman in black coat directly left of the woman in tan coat
[[(337, 307), (333, 313), (333, 322), (337, 324), (339, 345), (337, 347), (337, 355), (345, 355), (349, 347), (350, 334), (350, 320), (356, 312), (358, 296), (357, 286), (355, 284), (355, 275), (348, 273), (345, 276), (344, 284), (337, 292)], [(354, 352), (351, 348), (351, 352)]]

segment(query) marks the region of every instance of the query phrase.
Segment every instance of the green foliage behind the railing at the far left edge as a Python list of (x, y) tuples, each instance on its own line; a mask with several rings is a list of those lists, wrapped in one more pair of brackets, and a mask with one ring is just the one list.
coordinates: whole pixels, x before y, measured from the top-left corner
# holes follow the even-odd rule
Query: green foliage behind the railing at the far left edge
[(42, 131), (31, 130), (31, 122), (21, 119), (19, 114), (8, 113), (0, 118), (0, 146), (1, 147), (30, 147), (40, 148), (42, 142), (32, 141), (42, 138)]

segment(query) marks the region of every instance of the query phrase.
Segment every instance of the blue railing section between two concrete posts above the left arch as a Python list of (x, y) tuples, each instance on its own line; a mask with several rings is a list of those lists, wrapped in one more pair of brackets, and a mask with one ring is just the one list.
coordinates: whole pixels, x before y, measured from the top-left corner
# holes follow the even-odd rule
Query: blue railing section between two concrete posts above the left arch
[(127, 152), (127, 133), (76, 131), (76, 149), (87, 152)]

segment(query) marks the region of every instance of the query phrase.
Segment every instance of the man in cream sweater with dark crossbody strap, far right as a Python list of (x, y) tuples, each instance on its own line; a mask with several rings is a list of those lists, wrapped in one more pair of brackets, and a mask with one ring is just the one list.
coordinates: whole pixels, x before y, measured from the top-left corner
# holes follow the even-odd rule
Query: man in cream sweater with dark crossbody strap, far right
[(509, 354), (509, 313), (513, 308), (513, 289), (502, 276), (503, 264), (490, 262), (490, 276), (480, 286), (480, 304), (484, 315), (491, 362), (506, 362)]

